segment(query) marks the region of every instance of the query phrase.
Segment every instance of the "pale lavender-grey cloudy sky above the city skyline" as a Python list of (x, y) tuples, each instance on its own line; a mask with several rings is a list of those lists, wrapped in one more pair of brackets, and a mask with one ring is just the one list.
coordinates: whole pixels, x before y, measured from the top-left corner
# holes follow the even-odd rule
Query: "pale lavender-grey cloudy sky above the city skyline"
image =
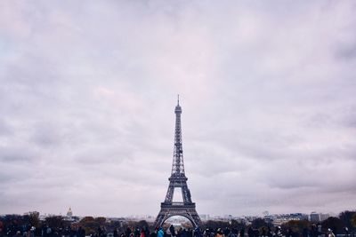
[(355, 1), (2, 1), (0, 214), (356, 208)]

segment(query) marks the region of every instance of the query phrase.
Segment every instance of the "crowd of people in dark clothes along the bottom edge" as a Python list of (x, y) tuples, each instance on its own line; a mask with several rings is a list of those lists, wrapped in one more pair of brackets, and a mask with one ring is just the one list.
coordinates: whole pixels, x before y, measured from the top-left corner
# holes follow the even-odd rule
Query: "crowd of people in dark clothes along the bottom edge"
[[(349, 235), (348, 229), (345, 227), (344, 237), (352, 237)], [(322, 233), (321, 225), (312, 225), (311, 228), (303, 228), (302, 233), (293, 231), (291, 228), (282, 230), (277, 227), (262, 227), (259, 229), (249, 226), (247, 231), (245, 228), (175, 228), (170, 225), (169, 228), (156, 228), (150, 231), (148, 226), (142, 228), (127, 227), (125, 229), (115, 228), (107, 231), (104, 226), (100, 226), (94, 233), (90, 233), (92, 237), (336, 237), (335, 233), (328, 228), (326, 233)], [(22, 229), (8, 228), (5, 232), (0, 232), (1, 236), (10, 237), (85, 237), (85, 229), (82, 226), (72, 228), (69, 226), (64, 228), (53, 228), (49, 225), (44, 225), (36, 229), (34, 226), (25, 226)]]

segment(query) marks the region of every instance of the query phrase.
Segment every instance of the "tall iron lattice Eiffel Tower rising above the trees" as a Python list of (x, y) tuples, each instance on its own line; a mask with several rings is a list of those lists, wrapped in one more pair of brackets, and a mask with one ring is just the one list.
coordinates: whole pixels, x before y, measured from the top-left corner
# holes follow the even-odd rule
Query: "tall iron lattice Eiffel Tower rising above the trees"
[[(179, 96), (174, 113), (175, 132), (172, 173), (171, 177), (168, 178), (169, 186), (166, 193), (166, 199), (164, 202), (161, 202), (161, 210), (158, 213), (154, 226), (161, 226), (169, 217), (182, 216), (188, 218), (191, 224), (195, 227), (201, 224), (201, 220), (195, 209), (195, 203), (191, 201), (190, 190), (187, 186), (188, 178), (185, 177), (184, 173), (181, 128), (182, 107), (179, 105)], [(175, 188), (180, 188), (182, 190), (182, 201), (173, 201)]]

